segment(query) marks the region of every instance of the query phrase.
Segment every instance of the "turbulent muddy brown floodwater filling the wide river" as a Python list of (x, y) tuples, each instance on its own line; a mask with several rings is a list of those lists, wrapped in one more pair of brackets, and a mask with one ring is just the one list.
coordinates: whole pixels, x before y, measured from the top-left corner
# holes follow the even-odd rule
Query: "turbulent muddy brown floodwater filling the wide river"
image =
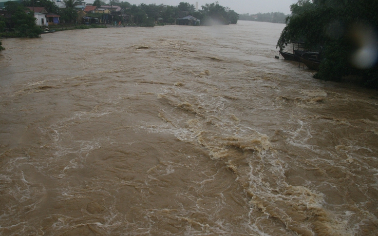
[(282, 24), (2, 40), (0, 234), (377, 235), (378, 94)]

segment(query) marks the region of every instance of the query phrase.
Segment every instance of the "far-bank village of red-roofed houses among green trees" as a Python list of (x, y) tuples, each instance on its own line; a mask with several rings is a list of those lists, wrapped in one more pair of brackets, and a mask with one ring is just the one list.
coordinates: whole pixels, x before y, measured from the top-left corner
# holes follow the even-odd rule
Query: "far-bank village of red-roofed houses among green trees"
[[(181, 2), (178, 6), (140, 4), (110, 0), (108, 3), (96, 0), (87, 4), (81, 0), (0, 0), (0, 33), (16, 27), (11, 9), (15, 4), (25, 7), (28, 14), (34, 14), (35, 24), (41, 28), (60, 24), (110, 24), (115, 26), (212, 25), (236, 24), (238, 14), (216, 3), (198, 7)], [(1, 27), (1, 22), (3, 28)]]

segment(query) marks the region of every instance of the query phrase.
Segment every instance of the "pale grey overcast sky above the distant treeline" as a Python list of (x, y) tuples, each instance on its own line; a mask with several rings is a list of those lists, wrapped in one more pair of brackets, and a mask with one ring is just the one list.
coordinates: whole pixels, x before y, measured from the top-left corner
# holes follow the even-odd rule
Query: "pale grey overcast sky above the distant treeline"
[[(93, 3), (93, 0), (87, 0), (88, 3)], [(106, 3), (109, 0), (105, 1)], [(214, 3), (215, 0), (120, 0), (120, 2), (129, 2), (130, 4), (139, 5), (144, 4), (153, 4), (156, 5), (164, 4), (169, 6), (177, 6), (180, 2), (186, 2), (196, 6), (198, 2), (198, 8), (201, 9), (202, 5), (206, 3)], [(218, 0), (219, 5), (223, 7), (230, 7), (231, 10), (236, 11), (239, 14), (244, 13), (267, 13), (267, 12), (283, 12), (285, 14), (290, 14), (290, 5), (296, 3), (297, 0)]]

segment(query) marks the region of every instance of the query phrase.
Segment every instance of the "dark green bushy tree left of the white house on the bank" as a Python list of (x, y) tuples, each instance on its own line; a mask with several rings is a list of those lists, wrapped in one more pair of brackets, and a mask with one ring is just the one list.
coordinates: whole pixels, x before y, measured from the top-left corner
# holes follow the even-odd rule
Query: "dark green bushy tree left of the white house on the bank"
[(21, 37), (39, 37), (42, 30), (35, 24), (34, 14), (22, 4), (6, 2), (5, 10), (11, 14), (8, 25)]

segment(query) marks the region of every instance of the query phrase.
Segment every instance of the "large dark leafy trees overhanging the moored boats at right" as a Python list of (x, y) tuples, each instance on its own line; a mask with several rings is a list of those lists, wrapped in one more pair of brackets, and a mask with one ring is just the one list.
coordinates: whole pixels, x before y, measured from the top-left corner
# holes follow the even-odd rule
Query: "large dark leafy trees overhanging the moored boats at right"
[(304, 42), (308, 50), (324, 48), (323, 61), (314, 77), (343, 81), (353, 76), (378, 89), (378, 1), (299, 0), (277, 42), (283, 50)]

